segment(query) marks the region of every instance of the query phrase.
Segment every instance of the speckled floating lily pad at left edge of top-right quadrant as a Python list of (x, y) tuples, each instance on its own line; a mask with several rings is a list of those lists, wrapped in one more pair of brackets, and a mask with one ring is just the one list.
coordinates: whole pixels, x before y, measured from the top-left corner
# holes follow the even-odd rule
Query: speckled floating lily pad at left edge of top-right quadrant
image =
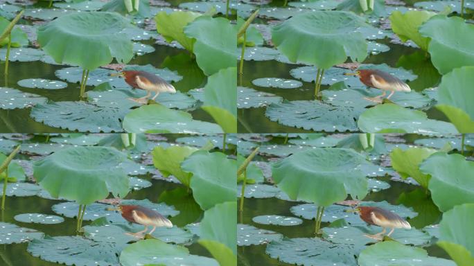
[(247, 87), (237, 87), (237, 108), (265, 107), (271, 103), (280, 103), (282, 98), (264, 91), (256, 91)]

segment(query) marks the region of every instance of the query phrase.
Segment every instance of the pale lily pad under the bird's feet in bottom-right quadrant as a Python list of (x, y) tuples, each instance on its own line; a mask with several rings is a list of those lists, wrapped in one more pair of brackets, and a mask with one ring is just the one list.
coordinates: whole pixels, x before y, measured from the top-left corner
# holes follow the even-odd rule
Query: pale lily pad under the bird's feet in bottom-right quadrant
[[(365, 245), (374, 242), (374, 239), (367, 238), (365, 235), (374, 235), (380, 233), (380, 227), (339, 227), (331, 228), (325, 227), (322, 229), (326, 235), (326, 239), (335, 244), (349, 244), (354, 245), (360, 250), (365, 249)], [(404, 245), (421, 246), (430, 242), (431, 236), (428, 233), (422, 232), (418, 229), (395, 229), (390, 238), (401, 242)]]

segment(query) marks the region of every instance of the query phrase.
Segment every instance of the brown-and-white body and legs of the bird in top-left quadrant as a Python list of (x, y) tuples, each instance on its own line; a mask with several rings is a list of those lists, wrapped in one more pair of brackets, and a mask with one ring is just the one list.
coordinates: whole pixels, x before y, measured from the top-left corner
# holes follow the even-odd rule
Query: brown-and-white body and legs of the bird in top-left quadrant
[(131, 100), (139, 103), (146, 103), (151, 96), (151, 91), (156, 92), (152, 100), (155, 100), (160, 92), (170, 92), (173, 94), (176, 92), (175, 87), (166, 82), (166, 80), (146, 71), (122, 71), (122, 76), (128, 85), (136, 89), (144, 89), (147, 91), (146, 96), (142, 98), (131, 98)]

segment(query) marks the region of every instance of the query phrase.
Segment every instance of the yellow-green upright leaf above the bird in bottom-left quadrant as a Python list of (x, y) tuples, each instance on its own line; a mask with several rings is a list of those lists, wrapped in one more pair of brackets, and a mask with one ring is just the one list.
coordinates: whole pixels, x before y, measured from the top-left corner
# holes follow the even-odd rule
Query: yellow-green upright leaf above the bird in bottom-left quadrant
[(152, 151), (153, 164), (165, 177), (173, 175), (184, 186), (189, 186), (193, 173), (182, 169), (181, 163), (197, 150), (188, 146), (171, 146), (166, 149), (158, 146)]

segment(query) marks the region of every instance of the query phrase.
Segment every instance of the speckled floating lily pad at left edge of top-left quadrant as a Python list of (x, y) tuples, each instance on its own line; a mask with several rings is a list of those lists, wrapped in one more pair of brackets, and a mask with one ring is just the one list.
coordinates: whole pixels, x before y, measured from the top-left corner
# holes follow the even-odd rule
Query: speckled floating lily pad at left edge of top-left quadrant
[(46, 103), (46, 98), (7, 87), (0, 87), (0, 109), (29, 108)]

